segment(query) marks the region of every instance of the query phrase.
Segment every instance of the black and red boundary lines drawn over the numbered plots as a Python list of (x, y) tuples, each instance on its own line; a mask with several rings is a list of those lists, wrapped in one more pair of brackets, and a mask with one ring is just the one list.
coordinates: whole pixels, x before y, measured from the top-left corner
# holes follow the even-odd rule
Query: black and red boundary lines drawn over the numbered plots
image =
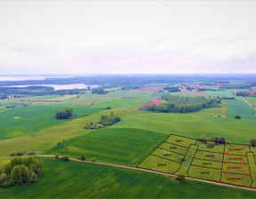
[[(187, 137), (187, 136), (182, 136), (182, 135), (177, 135), (177, 134), (170, 134), (167, 138), (165, 138), (157, 147), (155, 147), (148, 155), (146, 155), (146, 157), (145, 158), (143, 158), (141, 161), (140, 161), (140, 163), (137, 163), (137, 165), (136, 165), (136, 167), (138, 167), (138, 168), (141, 168), (141, 169), (145, 169), (145, 170), (148, 170), (148, 171), (159, 171), (159, 172), (163, 172), (163, 173), (167, 173), (167, 174), (174, 174), (175, 172), (178, 172), (179, 170), (180, 170), (180, 167), (181, 167), (181, 164), (185, 161), (185, 157), (188, 155), (188, 150), (189, 150), (189, 147), (185, 147), (185, 146), (181, 146), (181, 145), (179, 145), (179, 144), (174, 144), (174, 143), (171, 143), (171, 142), (169, 142), (169, 141), (166, 141), (167, 139), (169, 139), (170, 137), (180, 137), (180, 138), (185, 138), (185, 139), (190, 139), (191, 140), (191, 142), (190, 142), (190, 144), (189, 144), (189, 147), (191, 147), (191, 146), (196, 146), (196, 152), (194, 153), (194, 155), (193, 155), (193, 157), (192, 157), (192, 160), (191, 160), (191, 162), (189, 163), (189, 166), (188, 166), (188, 170), (186, 171), (186, 175), (188, 176), (188, 178), (194, 178), (194, 179), (203, 179), (203, 180), (210, 180), (210, 181), (214, 181), (214, 182), (220, 182), (220, 183), (228, 183), (228, 181), (232, 181), (232, 180), (236, 180), (239, 184), (237, 185), (234, 185), (234, 184), (232, 184), (232, 183), (228, 183), (228, 184), (231, 184), (231, 185), (234, 185), (234, 186), (236, 186), (236, 187), (252, 187), (252, 183), (248, 186), (248, 185), (246, 185), (246, 184), (244, 184), (243, 182), (240, 182), (239, 180), (237, 180), (237, 179), (243, 179), (243, 178), (245, 178), (245, 177), (250, 177), (251, 178), (251, 181), (252, 181), (252, 174), (251, 174), (251, 168), (250, 168), (250, 165), (248, 165), (249, 164), (249, 160), (248, 160), (248, 155), (247, 155), (247, 153), (252, 153), (252, 155), (253, 155), (253, 158), (254, 158), (254, 162), (255, 162), (255, 166), (256, 166), (256, 150), (255, 151), (253, 151), (252, 152), (252, 147), (253, 146), (251, 146), (251, 145), (245, 145), (245, 144), (240, 144), (240, 143), (229, 143), (229, 142), (224, 142), (224, 143), (221, 143), (221, 144), (223, 144), (223, 149), (222, 149), (222, 153), (221, 152), (216, 152), (216, 151), (210, 151), (210, 150), (202, 150), (202, 149), (199, 149), (200, 148), (200, 145), (198, 145), (197, 144), (197, 142), (198, 141), (204, 141), (204, 140), (202, 140), (202, 139), (193, 139), (193, 138), (189, 138), (189, 137)], [(177, 146), (177, 147), (183, 147), (184, 149), (186, 148), (187, 150), (186, 150), (186, 153), (185, 154), (181, 154), (181, 153), (178, 153), (178, 152), (175, 152), (175, 151), (172, 151), (172, 150), (169, 150), (169, 149), (166, 149), (166, 148), (163, 148), (163, 147), (160, 147), (163, 143), (167, 143), (167, 144), (169, 144), (169, 145), (172, 145), (172, 146)], [(188, 145), (188, 143), (189, 143), (189, 141), (188, 140), (186, 140), (186, 146)], [(185, 142), (184, 142), (184, 144), (185, 144)], [(235, 145), (235, 146), (232, 146), (232, 145)], [(231, 148), (229, 148), (229, 149), (231, 149), (231, 150), (228, 150), (227, 152), (226, 152), (226, 150), (227, 150), (227, 147), (232, 147), (233, 149), (231, 149)], [(240, 151), (242, 148), (245, 148), (245, 147), (248, 147), (249, 149), (249, 151), (244, 151), (244, 149), (243, 149), (243, 151), (244, 152), (242, 152), (242, 151)], [(168, 152), (172, 152), (173, 154), (177, 154), (177, 155), (183, 155), (184, 156), (184, 158), (183, 158), (183, 160), (181, 161), (181, 162), (177, 162), (177, 161), (173, 161), (172, 159), (168, 159), (168, 158), (164, 158), (164, 157), (162, 157), (162, 156), (158, 156), (158, 155), (154, 155), (154, 154), (152, 154), (156, 149), (161, 149), (161, 150), (164, 150), (164, 151), (168, 151)], [(256, 147), (253, 147), (253, 148), (255, 148), (256, 149)], [(179, 150), (179, 149), (178, 149)], [(182, 149), (182, 151), (183, 151), (183, 149)], [(185, 150), (184, 150), (185, 151)], [(234, 151), (236, 151), (237, 152), (237, 154), (234, 154)], [(211, 154), (220, 154), (221, 156), (222, 156), (222, 161), (217, 161), (217, 160), (211, 160), (211, 159), (203, 159), (203, 158), (198, 158), (198, 157), (196, 157), (196, 153), (198, 153), (198, 152), (206, 152), (206, 153), (209, 153), (210, 155)], [(232, 153), (233, 152), (233, 153)], [(145, 168), (145, 166), (144, 167), (141, 167), (140, 166), (140, 164), (141, 163), (143, 163), (147, 158), (148, 158), (148, 156), (149, 155), (153, 155), (153, 156), (156, 156), (157, 158), (161, 158), (161, 159), (164, 159), (164, 160), (167, 160), (167, 161), (171, 161), (171, 162), (173, 162), (173, 163), (180, 163), (180, 166), (179, 166), (179, 168), (178, 168), (178, 170), (177, 171), (172, 171), (172, 172), (165, 172), (165, 171), (161, 171), (161, 169), (159, 169), (159, 170), (156, 170), (156, 169), (148, 169), (148, 168)], [(228, 157), (228, 160), (227, 161), (225, 161), (224, 160), (224, 158), (225, 157)], [(232, 158), (232, 159), (230, 159), (230, 158)], [(242, 160), (242, 159), (247, 159), (247, 163), (245, 162), (246, 160)], [(211, 167), (211, 166), (200, 166), (200, 165), (196, 165), (196, 164), (194, 164), (193, 162), (194, 162), (194, 160), (202, 160), (202, 161), (208, 161), (208, 162), (214, 162), (214, 163), (221, 163), (221, 168), (217, 168), (217, 167)], [(232, 162), (232, 161), (234, 161), (234, 160), (236, 160), (236, 161), (238, 161), (238, 163), (234, 163), (234, 162)], [(228, 170), (225, 170), (225, 171), (223, 171), (223, 164), (224, 164), (224, 162), (225, 162), (225, 164), (228, 166), (228, 167), (231, 167), (230, 169), (228, 169)], [(240, 163), (239, 163), (240, 162)], [(231, 164), (231, 165), (228, 165), (228, 164)], [(243, 164), (244, 163), (244, 164)], [(233, 164), (233, 165), (232, 165)], [(238, 165), (238, 166), (236, 166), (236, 165), (234, 165), (234, 164), (241, 164), (241, 165)], [(249, 173), (247, 172), (247, 171), (243, 171), (243, 170), (240, 170), (240, 169), (238, 169), (239, 167), (243, 167), (243, 166), (246, 166), (246, 165), (248, 165), (248, 167), (249, 167)], [(201, 167), (201, 168), (206, 168), (206, 169), (211, 169), (211, 170), (216, 170), (216, 171), (220, 171), (220, 180), (218, 181), (218, 180), (215, 180), (214, 179), (214, 176), (212, 177), (212, 179), (204, 179), (204, 178), (195, 178), (195, 177), (191, 177), (191, 175), (189, 175), (188, 173), (189, 173), (189, 171), (191, 170), (191, 168), (192, 167)], [(147, 166), (146, 166), (147, 167)], [(233, 169), (233, 167), (234, 167), (234, 169)], [(236, 173), (236, 172), (232, 172), (232, 170), (235, 170), (235, 171), (240, 171), (239, 173)], [(247, 170), (247, 168), (246, 168), (246, 170)], [(230, 172), (231, 171), (231, 172)], [(231, 177), (231, 176), (229, 176), (229, 174), (235, 174), (235, 175), (240, 175), (240, 177), (236, 177), (236, 178), (233, 178), (233, 177)], [(219, 175), (219, 174), (218, 174)], [(221, 179), (223, 178), (223, 175), (226, 175), (226, 176), (228, 176), (228, 178), (230, 178), (230, 179), (228, 179), (228, 180), (224, 180), (225, 182), (223, 182), (223, 180), (221, 181)], [(252, 187), (252, 188), (254, 188), (254, 187)], [(256, 188), (256, 187), (255, 187)]]

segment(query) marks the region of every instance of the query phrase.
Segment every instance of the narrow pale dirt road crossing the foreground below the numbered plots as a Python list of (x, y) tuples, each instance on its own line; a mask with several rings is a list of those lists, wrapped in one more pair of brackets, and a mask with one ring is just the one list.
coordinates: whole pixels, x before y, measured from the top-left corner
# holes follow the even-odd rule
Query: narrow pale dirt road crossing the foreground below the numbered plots
[[(24, 156), (33, 156), (33, 155), (24, 155)], [(55, 155), (34, 155), (34, 156), (37, 156), (37, 157), (55, 157)], [(59, 158), (61, 158), (61, 157), (62, 157), (62, 156), (59, 156)], [(0, 157), (0, 159), (4, 159), (4, 158), (10, 158), (10, 156)], [(69, 160), (71, 160), (71, 161), (76, 161), (76, 162), (80, 162), (80, 163), (95, 163), (95, 164), (107, 165), (107, 166), (114, 166), (114, 167), (118, 167), (118, 168), (130, 169), (130, 170), (153, 172), (153, 173), (160, 174), (160, 175), (164, 175), (164, 176), (172, 176), (172, 177), (174, 177), (174, 178), (177, 176), (177, 175), (173, 175), (173, 174), (170, 174), (170, 173), (164, 173), (164, 172), (160, 172), (160, 171), (146, 170), (146, 169), (142, 169), (142, 168), (138, 168), (138, 167), (124, 166), (124, 165), (115, 164), (115, 163), (92, 162), (92, 161), (88, 161), (88, 160), (79, 160), (79, 159), (76, 159), (76, 158), (69, 158)], [(239, 186), (224, 184), (224, 183), (221, 183), (221, 182), (213, 182), (213, 181), (205, 180), (205, 179), (194, 179), (194, 178), (190, 178), (190, 177), (185, 177), (185, 179), (192, 179), (192, 180), (196, 180), (196, 181), (200, 181), (200, 182), (205, 182), (205, 183), (210, 183), (210, 184), (214, 184), (214, 185), (220, 185), (220, 186), (224, 186), (224, 187), (234, 187), (234, 188), (241, 188), (241, 189), (250, 190), (250, 191), (256, 191), (256, 188), (239, 187)]]

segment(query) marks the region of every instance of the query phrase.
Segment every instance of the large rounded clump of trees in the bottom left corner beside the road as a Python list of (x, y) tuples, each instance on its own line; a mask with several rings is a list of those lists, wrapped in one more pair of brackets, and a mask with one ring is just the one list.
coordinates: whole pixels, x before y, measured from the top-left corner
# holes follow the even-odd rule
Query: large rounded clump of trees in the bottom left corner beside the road
[(32, 157), (12, 158), (0, 172), (0, 186), (22, 186), (36, 182), (43, 174), (43, 163)]

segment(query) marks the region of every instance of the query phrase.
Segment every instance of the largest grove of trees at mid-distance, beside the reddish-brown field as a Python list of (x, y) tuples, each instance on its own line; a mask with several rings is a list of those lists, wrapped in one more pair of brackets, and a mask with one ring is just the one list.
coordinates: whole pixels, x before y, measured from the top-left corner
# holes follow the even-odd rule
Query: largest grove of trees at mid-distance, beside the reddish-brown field
[(181, 97), (172, 95), (162, 95), (166, 102), (159, 105), (152, 104), (142, 109), (161, 113), (189, 113), (196, 112), (207, 107), (220, 107), (220, 99), (206, 99), (204, 97)]

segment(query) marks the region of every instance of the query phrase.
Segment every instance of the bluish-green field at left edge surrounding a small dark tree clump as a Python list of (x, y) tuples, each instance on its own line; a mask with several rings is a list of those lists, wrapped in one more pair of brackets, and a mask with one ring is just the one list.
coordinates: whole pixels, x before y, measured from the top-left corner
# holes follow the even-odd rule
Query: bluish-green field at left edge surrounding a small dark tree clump
[(72, 107), (74, 117), (91, 115), (101, 109), (85, 109), (82, 106), (70, 105), (31, 105), (29, 107), (14, 107), (0, 114), (0, 139), (10, 139), (34, 131), (64, 123), (67, 120), (55, 119), (55, 113), (65, 107)]

